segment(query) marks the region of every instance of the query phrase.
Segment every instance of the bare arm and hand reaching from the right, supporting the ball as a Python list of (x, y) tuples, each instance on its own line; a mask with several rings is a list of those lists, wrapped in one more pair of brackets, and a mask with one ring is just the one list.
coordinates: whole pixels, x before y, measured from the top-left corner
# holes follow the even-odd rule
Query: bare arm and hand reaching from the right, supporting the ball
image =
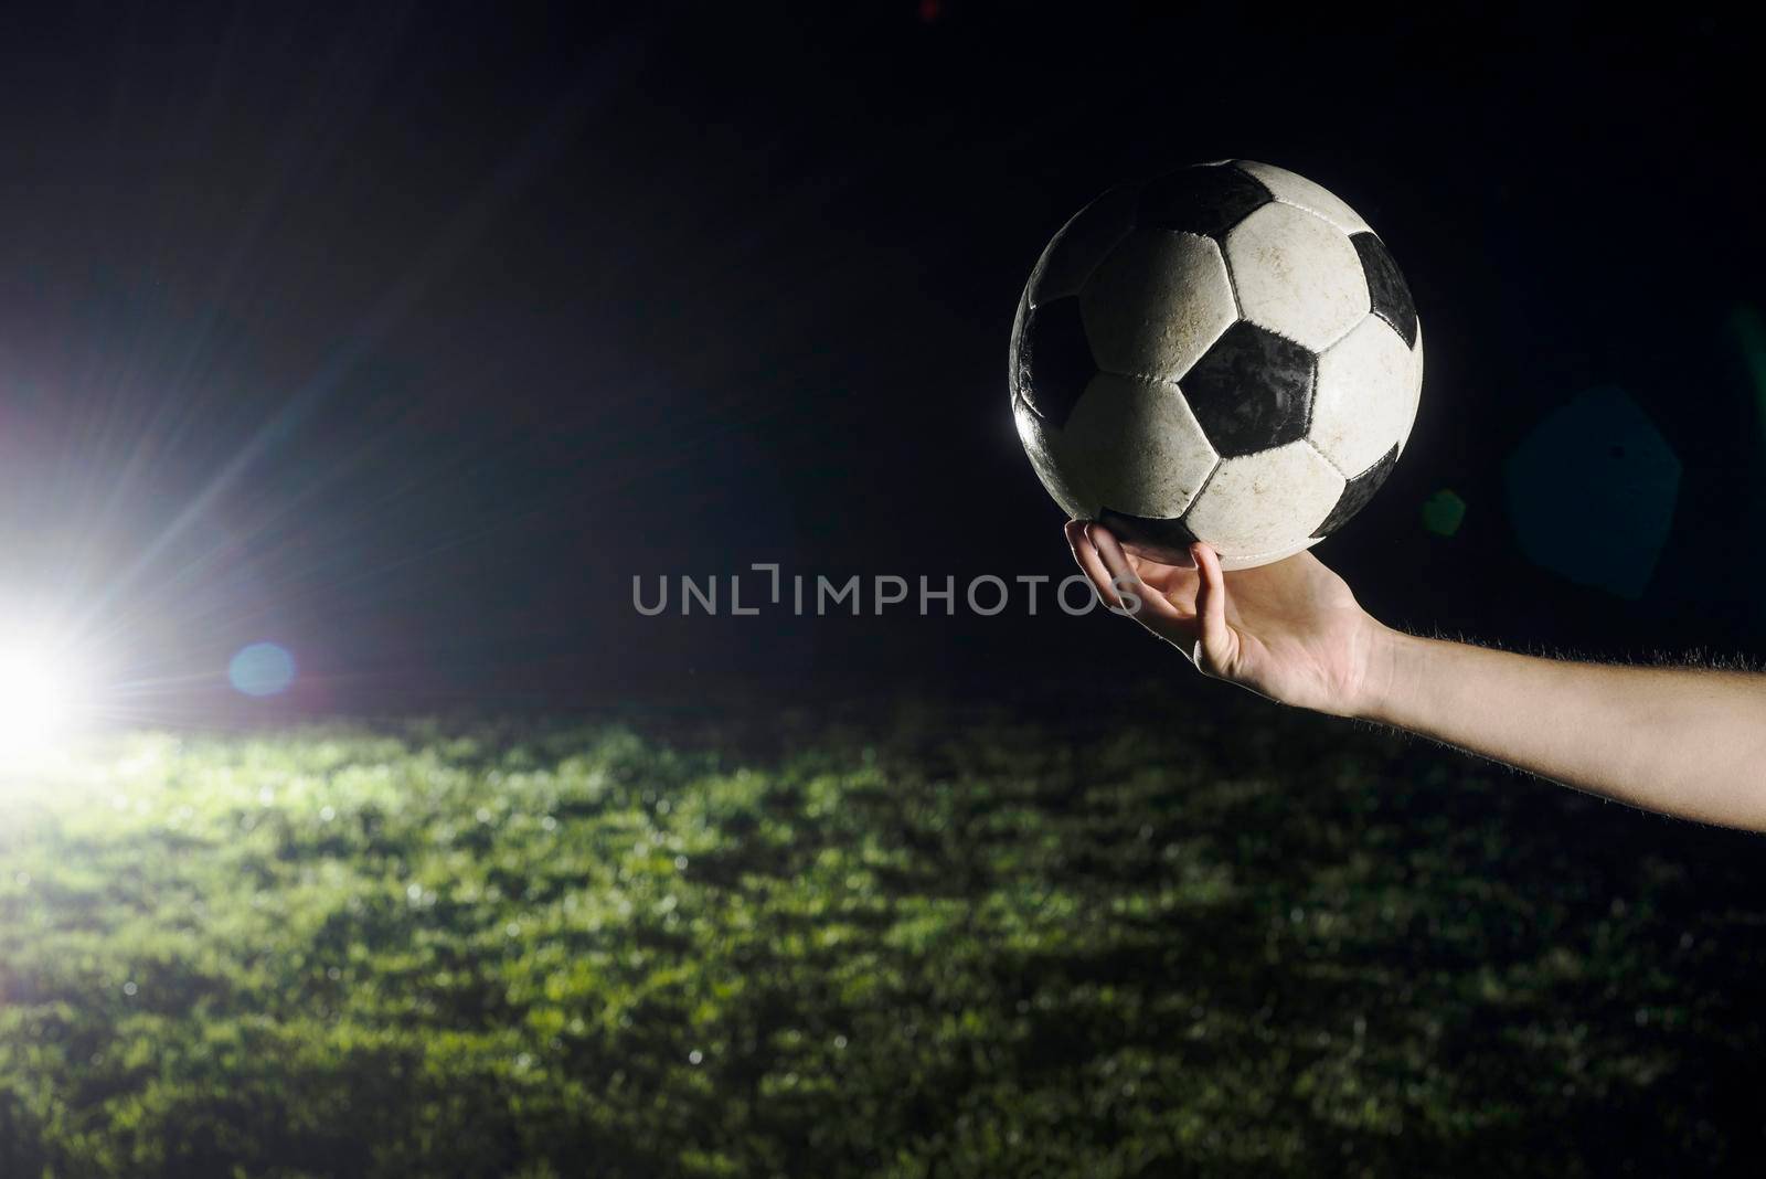
[(1310, 552), (1224, 574), (1206, 544), (1190, 545), (1190, 565), (1166, 565), (1102, 524), (1070, 521), (1067, 540), (1106, 604), (1136, 607), (1136, 621), (1204, 676), (1646, 810), (1766, 830), (1762, 674), (1582, 664), (1404, 634)]

